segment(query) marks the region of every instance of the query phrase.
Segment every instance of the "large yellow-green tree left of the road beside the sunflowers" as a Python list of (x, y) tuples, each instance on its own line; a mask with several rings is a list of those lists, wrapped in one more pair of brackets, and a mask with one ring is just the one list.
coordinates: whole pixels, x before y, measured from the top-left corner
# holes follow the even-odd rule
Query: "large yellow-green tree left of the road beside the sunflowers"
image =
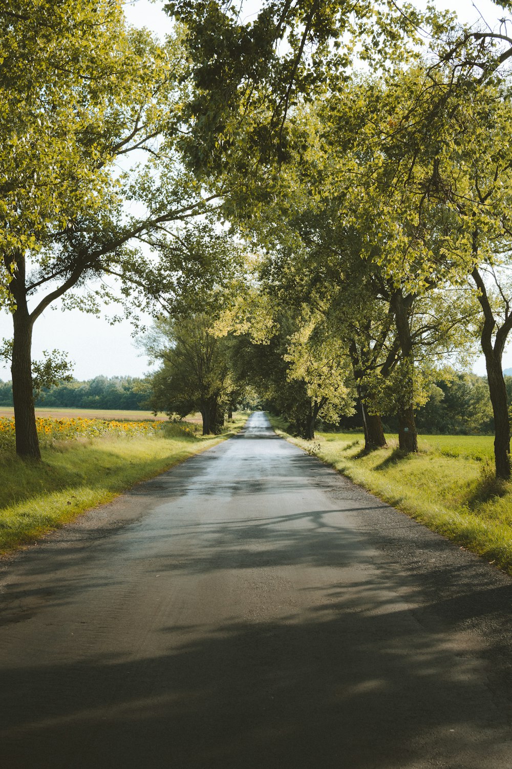
[[(179, 35), (160, 47), (126, 26), (117, 0), (8, 2), (0, 33), (0, 285), (13, 318), (16, 451), (38, 459), (35, 321), (61, 297), (99, 311), (116, 298), (104, 284), (85, 298), (70, 292), (102, 275), (120, 279), (125, 299), (138, 290), (126, 302), (135, 317), (151, 300), (172, 297), (187, 265), (200, 271), (193, 243), (201, 235), (169, 225), (204, 214), (211, 198), (180, 167), (174, 146), (185, 88)], [(119, 171), (117, 161), (144, 154), (150, 161), (140, 172)], [(142, 242), (153, 254), (143, 255)]]

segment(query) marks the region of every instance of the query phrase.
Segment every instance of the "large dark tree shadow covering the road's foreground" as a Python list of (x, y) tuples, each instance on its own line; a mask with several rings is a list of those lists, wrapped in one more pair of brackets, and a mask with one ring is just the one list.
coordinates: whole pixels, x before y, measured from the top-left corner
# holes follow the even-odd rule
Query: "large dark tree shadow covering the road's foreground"
[[(10, 769), (510, 765), (505, 703), (487, 686), (480, 650), (458, 654), (451, 635), (454, 614), (473, 608), (450, 599), (441, 626), (428, 606), (398, 601), (396, 587), (388, 581), (383, 601), (382, 584), (362, 571), (303, 588), (300, 610), (280, 617), (182, 627), (162, 617), (128, 658), (43, 654), (4, 670), (2, 760)], [(489, 597), (477, 596), (484, 614)]]

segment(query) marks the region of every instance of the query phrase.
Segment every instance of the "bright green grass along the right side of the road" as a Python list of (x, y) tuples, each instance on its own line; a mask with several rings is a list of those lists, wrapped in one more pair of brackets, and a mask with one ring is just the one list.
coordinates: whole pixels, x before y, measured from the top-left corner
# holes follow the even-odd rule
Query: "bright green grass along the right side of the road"
[(315, 454), (352, 481), (512, 574), (512, 484), (494, 478), (490, 436), (425, 435), (418, 454), (388, 448), (364, 451), (362, 433), (291, 438), (287, 423), (269, 416), (278, 434)]

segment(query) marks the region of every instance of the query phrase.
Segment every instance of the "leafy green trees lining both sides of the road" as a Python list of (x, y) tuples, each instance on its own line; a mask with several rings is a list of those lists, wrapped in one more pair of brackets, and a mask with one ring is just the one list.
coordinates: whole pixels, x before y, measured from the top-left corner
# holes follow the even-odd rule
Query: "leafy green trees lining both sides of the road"
[[(348, 414), (358, 396), (368, 448), (385, 444), (382, 414), (394, 412), (400, 448), (416, 451), (415, 409), (479, 340), (497, 475), (509, 478), (507, 22), (478, 32), (393, 0), (276, 0), (246, 22), (229, 2), (165, 7), (178, 22), (165, 45), (127, 28), (115, 0), (0, 9), (18, 454), (38, 457), (32, 325), (109, 275), (128, 312), (173, 318), (157, 327), (161, 381), (174, 387), (187, 317), (200, 328), (206, 314), (204, 344), (212, 332), (225, 338), (213, 348), (237, 351), (218, 402), (224, 383), (258, 381), (311, 437), (316, 418)], [(141, 153), (140, 168), (119, 171)], [(101, 285), (68, 304), (113, 298)], [(176, 391), (170, 401), (186, 408)]]

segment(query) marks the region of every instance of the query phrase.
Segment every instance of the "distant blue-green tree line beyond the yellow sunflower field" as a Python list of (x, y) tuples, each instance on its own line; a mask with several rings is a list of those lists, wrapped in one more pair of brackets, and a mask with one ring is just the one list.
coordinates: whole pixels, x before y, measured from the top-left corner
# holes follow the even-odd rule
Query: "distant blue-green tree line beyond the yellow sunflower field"
[[(36, 406), (54, 408), (147, 409), (151, 387), (136, 377), (94, 377), (87, 381), (74, 379), (58, 387), (43, 388)], [(0, 380), (0, 406), (12, 406), (12, 382)]]

